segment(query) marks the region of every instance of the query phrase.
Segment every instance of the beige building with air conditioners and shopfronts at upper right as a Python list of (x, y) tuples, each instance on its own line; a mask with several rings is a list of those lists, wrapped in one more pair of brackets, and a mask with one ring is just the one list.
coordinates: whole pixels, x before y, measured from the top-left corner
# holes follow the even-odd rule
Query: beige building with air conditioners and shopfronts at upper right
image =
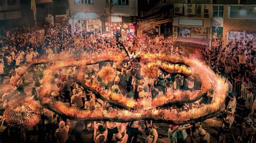
[(212, 46), (215, 39), (223, 39), (224, 45), (244, 40), (256, 43), (255, 4), (256, 1), (250, 0), (180, 1), (173, 8), (173, 40), (207, 38), (212, 40)]

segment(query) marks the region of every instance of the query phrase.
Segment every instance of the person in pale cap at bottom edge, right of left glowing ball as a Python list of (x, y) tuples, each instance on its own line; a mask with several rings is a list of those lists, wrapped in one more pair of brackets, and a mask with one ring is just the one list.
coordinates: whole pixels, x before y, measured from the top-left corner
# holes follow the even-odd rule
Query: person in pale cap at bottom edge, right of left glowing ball
[(59, 143), (65, 143), (69, 138), (69, 125), (65, 125), (65, 121), (59, 122), (59, 128), (56, 130), (56, 136)]

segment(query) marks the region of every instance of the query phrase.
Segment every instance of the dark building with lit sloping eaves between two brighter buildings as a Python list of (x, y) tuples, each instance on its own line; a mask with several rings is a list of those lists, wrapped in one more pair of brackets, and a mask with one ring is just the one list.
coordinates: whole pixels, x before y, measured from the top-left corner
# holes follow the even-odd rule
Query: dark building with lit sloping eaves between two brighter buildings
[(151, 6), (152, 3), (154, 4), (152, 8), (147, 11), (144, 8), (140, 11), (137, 20), (137, 35), (149, 35), (150, 37), (156, 34), (166, 37), (172, 35), (173, 4), (169, 1), (158, 1), (158, 3), (146, 1), (144, 6)]

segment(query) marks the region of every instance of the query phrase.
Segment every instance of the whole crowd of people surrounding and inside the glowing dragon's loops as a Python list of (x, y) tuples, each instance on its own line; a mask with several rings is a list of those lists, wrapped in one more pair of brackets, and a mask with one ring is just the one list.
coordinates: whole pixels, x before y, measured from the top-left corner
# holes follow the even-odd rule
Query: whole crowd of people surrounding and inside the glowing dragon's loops
[[(122, 34), (120, 38), (101, 37), (93, 32), (71, 33), (67, 26), (56, 25), (54, 27), (16, 27), (10, 30), (2, 28), (0, 37), (0, 86), (4, 85), (6, 75), (10, 76), (10, 84), (14, 85), (15, 77), (21, 72), (19, 68), (28, 65), (31, 62), (38, 61), (45, 57), (52, 59), (59, 54), (74, 55), (75, 57), (121, 52), (116, 47), (117, 42), (122, 42), (128, 47), (129, 54), (136, 55), (140, 52), (145, 53), (170, 53), (171, 55), (183, 56), (184, 51), (180, 47), (173, 46), (170, 38), (162, 38), (156, 35), (150, 37), (136, 37)], [(222, 46), (218, 42), (214, 47), (203, 50), (202, 56), (198, 56), (205, 61), (216, 73), (227, 78), (229, 91), (226, 99), (226, 109), (222, 116), (223, 126), (218, 132), (218, 142), (225, 142), (226, 134), (231, 133), (231, 126), (235, 122), (236, 115), (244, 118), (241, 124), (241, 135), (238, 139), (241, 142), (255, 141), (254, 125), (256, 125), (256, 112), (254, 112), (254, 81), (255, 81), (255, 52), (252, 46), (243, 43), (231, 43)], [(104, 66), (111, 66), (117, 70), (114, 80), (109, 83), (103, 83), (98, 73)], [(31, 93), (35, 100), (38, 100), (42, 79), (44, 76), (44, 66), (36, 66), (33, 69), (31, 84)], [(67, 106), (75, 106), (81, 110), (92, 111), (98, 108), (107, 110), (107, 113), (116, 113), (115, 107), (96, 98), (93, 92), (86, 91), (75, 82), (76, 68), (65, 68), (60, 74), (55, 75), (55, 80), (51, 81), (51, 86), (58, 89), (49, 91), (49, 95), (57, 100), (66, 102)], [(122, 94), (127, 98), (145, 100), (146, 104), (142, 106), (144, 110), (151, 109), (151, 100), (157, 96), (166, 94), (172, 95), (173, 91), (192, 89), (196, 83), (190, 83), (181, 75), (159, 73), (154, 80), (144, 78), (136, 80), (132, 76), (130, 69), (118, 69), (111, 62), (101, 63), (91, 66), (84, 73), (85, 84), (99, 82), (105, 89)], [(140, 76), (139, 73), (137, 76)], [(27, 80), (18, 82), (20, 85), (17, 90), (23, 91)], [(190, 83), (190, 84), (188, 84)], [(8, 94), (6, 91), (5, 94)], [(23, 94), (26, 94), (22, 92)], [(9, 102), (2, 96), (3, 102)], [(243, 106), (244, 111), (235, 112), (239, 104)], [(5, 105), (5, 104), (4, 104)], [(5, 107), (3, 107), (5, 108)], [(143, 126), (145, 130), (145, 142), (157, 142), (158, 132), (157, 124), (153, 121), (132, 121), (130, 123), (117, 123), (113, 121), (74, 121), (60, 117), (48, 109), (43, 109), (43, 116), (38, 125), (32, 129), (9, 128), (10, 133), (6, 137), (14, 142), (29, 141), (33, 136), (37, 137), (38, 142), (83, 142), (84, 132), (93, 132), (91, 142), (137, 142), (139, 127)], [(4, 119), (4, 117), (2, 118)], [(4, 122), (4, 120), (3, 120)], [(238, 123), (236, 123), (238, 124)], [(22, 132), (21, 132), (22, 130)], [(210, 142), (210, 133), (207, 133), (202, 127), (199, 127), (197, 133), (199, 138), (194, 137), (196, 124), (193, 125), (170, 125), (168, 130), (169, 142)], [(21, 134), (23, 133), (23, 134)], [(23, 137), (25, 136), (25, 137)], [(73, 137), (73, 139), (72, 139)], [(22, 139), (21, 139), (22, 138)], [(6, 141), (6, 140), (4, 140)], [(33, 140), (35, 141), (35, 140)], [(88, 142), (88, 140), (86, 140)], [(86, 142), (84, 141), (84, 142)]]

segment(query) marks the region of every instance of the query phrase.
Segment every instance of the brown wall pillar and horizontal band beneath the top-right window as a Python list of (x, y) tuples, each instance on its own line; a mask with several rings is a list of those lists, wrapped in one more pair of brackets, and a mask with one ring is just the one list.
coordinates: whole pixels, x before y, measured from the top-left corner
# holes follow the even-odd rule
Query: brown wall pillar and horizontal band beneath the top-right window
[(228, 31), (256, 32), (256, 19), (229, 19), (228, 5), (224, 6), (223, 40), (226, 45)]

